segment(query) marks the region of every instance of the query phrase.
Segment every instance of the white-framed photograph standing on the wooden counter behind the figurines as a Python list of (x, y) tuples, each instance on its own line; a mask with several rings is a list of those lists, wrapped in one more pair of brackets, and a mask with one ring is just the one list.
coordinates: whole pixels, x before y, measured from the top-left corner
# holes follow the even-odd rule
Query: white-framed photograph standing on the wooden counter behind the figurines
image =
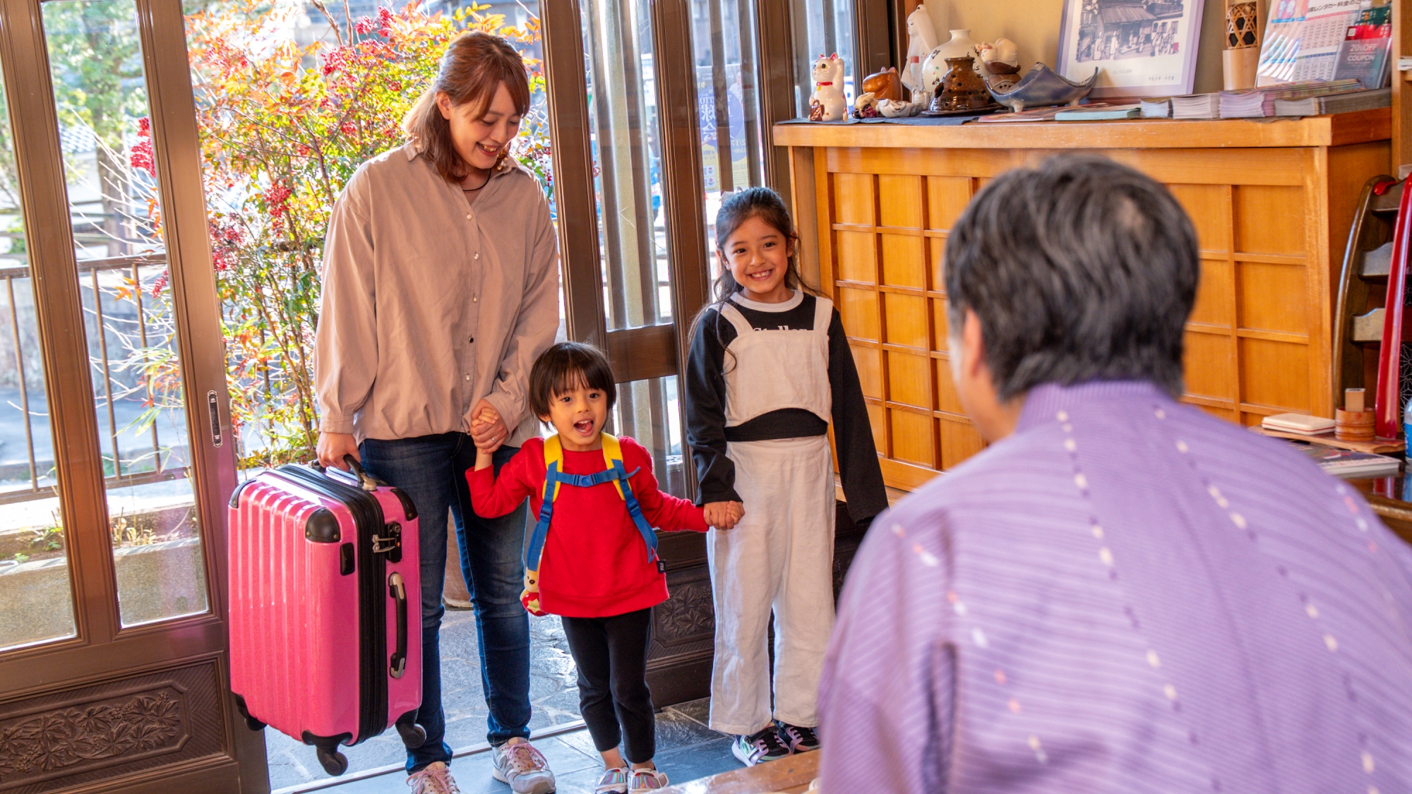
[(1196, 81), (1204, 0), (1065, 0), (1055, 71), (1089, 96), (1179, 96)]

